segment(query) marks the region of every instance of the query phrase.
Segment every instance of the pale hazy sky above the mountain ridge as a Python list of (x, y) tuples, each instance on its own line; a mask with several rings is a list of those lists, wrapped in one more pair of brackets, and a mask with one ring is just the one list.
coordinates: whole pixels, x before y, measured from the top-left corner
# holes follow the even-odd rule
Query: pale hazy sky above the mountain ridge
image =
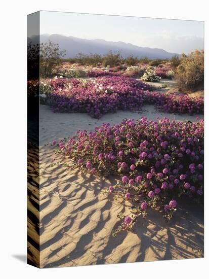
[(104, 39), (188, 53), (203, 49), (202, 21), (40, 12), (40, 34)]

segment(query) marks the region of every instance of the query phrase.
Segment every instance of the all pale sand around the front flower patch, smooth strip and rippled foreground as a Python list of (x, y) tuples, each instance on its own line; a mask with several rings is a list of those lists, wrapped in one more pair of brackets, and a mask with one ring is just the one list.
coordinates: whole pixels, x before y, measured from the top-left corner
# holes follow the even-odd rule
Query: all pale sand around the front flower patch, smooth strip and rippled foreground
[[(180, 208), (170, 223), (161, 214), (150, 211), (139, 218), (134, 230), (114, 238), (117, 214), (130, 213), (129, 201), (113, 201), (101, 194), (114, 179), (95, 177), (78, 170), (50, 164), (53, 149), (44, 144), (72, 136), (77, 129), (93, 130), (103, 122), (119, 123), (123, 118), (174, 116), (156, 113), (152, 106), (144, 112), (118, 112), (96, 120), (87, 114), (54, 114), (48, 106), (40, 108), (40, 197), (35, 183), (29, 186), (29, 259), (40, 267), (111, 264), (136, 261), (188, 259), (203, 256), (202, 208), (187, 204)], [(196, 117), (196, 116), (195, 116)], [(178, 120), (195, 117), (175, 116)], [(200, 116), (202, 118), (202, 116)], [(31, 156), (34, 156), (31, 154)], [(59, 159), (60, 162), (64, 160)], [(31, 168), (34, 166), (31, 166)], [(35, 180), (36, 178), (34, 178)], [(38, 199), (40, 198), (40, 212)], [(125, 206), (126, 205), (126, 208)], [(195, 207), (195, 208), (194, 208)], [(40, 218), (39, 226), (34, 222)], [(38, 247), (40, 233), (40, 247)]]

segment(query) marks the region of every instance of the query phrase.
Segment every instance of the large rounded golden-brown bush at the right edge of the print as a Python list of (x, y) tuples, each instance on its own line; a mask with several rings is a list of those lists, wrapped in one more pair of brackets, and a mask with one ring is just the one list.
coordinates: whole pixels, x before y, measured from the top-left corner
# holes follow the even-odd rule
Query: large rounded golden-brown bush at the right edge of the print
[(181, 57), (177, 67), (176, 80), (180, 90), (195, 90), (204, 83), (204, 51), (194, 51)]

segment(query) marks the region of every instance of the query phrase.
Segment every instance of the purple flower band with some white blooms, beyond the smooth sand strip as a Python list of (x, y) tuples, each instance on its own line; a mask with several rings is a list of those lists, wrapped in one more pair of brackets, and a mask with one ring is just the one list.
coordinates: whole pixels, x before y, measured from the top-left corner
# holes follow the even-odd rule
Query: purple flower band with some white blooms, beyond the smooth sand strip
[[(29, 83), (29, 89), (37, 81)], [(125, 77), (98, 77), (90, 80), (57, 78), (40, 82), (41, 103), (49, 104), (54, 112), (88, 113), (94, 118), (117, 110), (139, 111), (144, 104), (154, 104), (167, 113), (202, 114), (203, 98), (184, 94), (154, 92), (153, 87)]]

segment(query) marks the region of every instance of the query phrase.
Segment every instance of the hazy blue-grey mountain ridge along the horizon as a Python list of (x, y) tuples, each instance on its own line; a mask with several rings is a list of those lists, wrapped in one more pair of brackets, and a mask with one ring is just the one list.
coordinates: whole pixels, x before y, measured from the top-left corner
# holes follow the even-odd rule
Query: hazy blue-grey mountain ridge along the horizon
[[(138, 58), (148, 57), (149, 59), (166, 59), (171, 58), (174, 55), (179, 55), (177, 53), (170, 53), (163, 49), (158, 48), (147, 48), (147, 47), (138, 47), (132, 44), (127, 44), (124, 42), (108, 42), (105, 40), (87, 40), (79, 39), (72, 36), (62, 36), (59, 34), (43, 34), (40, 35), (40, 42), (45, 43), (48, 40), (51, 40), (53, 43), (59, 44), (60, 50), (66, 50), (66, 56), (75, 57), (78, 53), (83, 54), (106, 54), (110, 50), (115, 53), (120, 51), (123, 58), (126, 58), (130, 55), (136, 56)], [(38, 41), (37, 36), (28, 38), (28, 43), (32, 42), (36, 44)]]

